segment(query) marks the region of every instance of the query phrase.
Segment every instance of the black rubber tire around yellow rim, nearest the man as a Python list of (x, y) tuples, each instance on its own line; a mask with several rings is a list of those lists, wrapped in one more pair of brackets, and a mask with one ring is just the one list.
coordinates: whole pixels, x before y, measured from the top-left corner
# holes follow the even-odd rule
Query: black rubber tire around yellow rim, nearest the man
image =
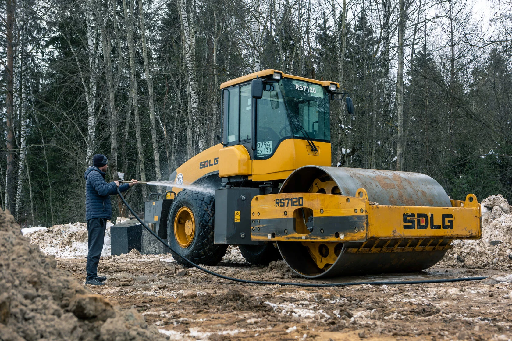
[[(196, 231), (190, 245), (183, 248), (174, 236), (174, 217), (182, 207), (188, 207), (194, 214)], [(197, 191), (182, 190), (176, 196), (167, 217), (167, 243), (180, 255), (191, 262), (204, 265), (217, 265), (226, 254), (227, 246), (214, 243), (215, 196)], [(180, 256), (173, 254), (178, 264), (190, 265)]]

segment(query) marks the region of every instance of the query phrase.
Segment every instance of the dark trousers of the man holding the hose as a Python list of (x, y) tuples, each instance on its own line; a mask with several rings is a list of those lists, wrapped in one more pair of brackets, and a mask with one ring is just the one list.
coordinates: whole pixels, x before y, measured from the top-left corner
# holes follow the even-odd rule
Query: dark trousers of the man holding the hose
[(98, 276), (98, 263), (103, 249), (105, 238), (106, 219), (92, 218), (87, 221), (87, 234), (89, 235), (89, 252), (87, 253), (87, 281)]

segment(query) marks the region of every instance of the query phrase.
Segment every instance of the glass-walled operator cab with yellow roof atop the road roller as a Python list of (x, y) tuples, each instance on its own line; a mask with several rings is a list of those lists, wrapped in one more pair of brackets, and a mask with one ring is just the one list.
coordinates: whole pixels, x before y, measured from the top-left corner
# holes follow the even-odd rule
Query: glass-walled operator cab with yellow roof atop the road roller
[(288, 139), (306, 140), (317, 152), (331, 140), (329, 98), (338, 87), (275, 70), (223, 83), (222, 144), (245, 146), (252, 160), (270, 158)]

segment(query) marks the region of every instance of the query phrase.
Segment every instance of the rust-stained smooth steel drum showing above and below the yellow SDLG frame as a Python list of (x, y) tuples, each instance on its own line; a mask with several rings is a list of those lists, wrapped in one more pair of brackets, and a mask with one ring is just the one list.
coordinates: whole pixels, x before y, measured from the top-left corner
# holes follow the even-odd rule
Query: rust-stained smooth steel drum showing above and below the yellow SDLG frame
[[(291, 173), (281, 186), (280, 193), (309, 192), (315, 179), (335, 181), (338, 194), (355, 196), (359, 188), (366, 189), (368, 199), (381, 205), (452, 207), (444, 189), (428, 175), (345, 167), (305, 166)], [(330, 194), (330, 193), (329, 193)], [(443, 251), (348, 254), (345, 243), (335, 263), (319, 268), (300, 242), (278, 242), (285, 262), (307, 278), (334, 277), (384, 272), (421, 271), (436, 264)]]

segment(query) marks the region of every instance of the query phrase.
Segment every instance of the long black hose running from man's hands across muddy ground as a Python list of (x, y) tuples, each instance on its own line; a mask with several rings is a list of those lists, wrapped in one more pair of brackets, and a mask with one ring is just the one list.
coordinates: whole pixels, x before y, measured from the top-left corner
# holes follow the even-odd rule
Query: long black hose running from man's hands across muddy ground
[(362, 285), (362, 284), (371, 284), (371, 285), (396, 285), (396, 284), (426, 284), (426, 283), (446, 283), (446, 282), (463, 282), (463, 281), (481, 281), (486, 279), (487, 277), (459, 277), (459, 278), (449, 278), (449, 279), (438, 279), (438, 280), (418, 280), (418, 281), (377, 281), (377, 282), (345, 282), (345, 283), (292, 283), (292, 282), (267, 282), (267, 281), (251, 281), (251, 280), (241, 280), (239, 278), (233, 278), (224, 276), (221, 274), (217, 274), (217, 272), (210, 271), (208, 269), (205, 269), (204, 267), (197, 265), (196, 263), (186, 259), (184, 256), (180, 255), (179, 252), (177, 252), (174, 248), (172, 248), (169, 244), (167, 244), (162, 238), (160, 238), (153, 230), (147, 227), (147, 225), (140, 220), (139, 216), (132, 210), (130, 205), (126, 202), (124, 197), (122, 196), (121, 192), (119, 191), (119, 187), (117, 188), (117, 193), (119, 194), (119, 197), (125, 204), (126, 208), (132, 212), (135, 218), (144, 226), (144, 228), (149, 231), (155, 238), (157, 238), (162, 244), (164, 244), (166, 247), (168, 247), (172, 252), (174, 252), (176, 255), (181, 257), (185, 262), (187, 262), (189, 265), (197, 267), (201, 271), (206, 272), (207, 274), (217, 276), (219, 278), (222, 278), (224, 280), (233, 281), (233, 282), (239, 282), (239, 283), (249, 283), (249, 284), (263, 284), (263, 285), (295, 285), (295, 286), (301, 286), (301, 287), (333, 287), (333, 286), (349, 286), (349, 285)]

